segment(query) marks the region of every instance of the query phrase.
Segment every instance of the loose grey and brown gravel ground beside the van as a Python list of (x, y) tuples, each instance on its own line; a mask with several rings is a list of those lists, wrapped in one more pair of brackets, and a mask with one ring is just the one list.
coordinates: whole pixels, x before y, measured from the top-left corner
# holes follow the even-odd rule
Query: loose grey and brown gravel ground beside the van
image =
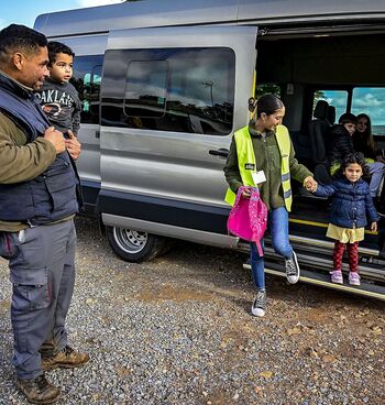
[[(77, 229), (67, 326), (91, 361), (47, 373), (59, 404), (385, 404), (383, 303), (267, 276), (257, 319), (241, 254), (178, 243), (129, 264), (95, 221)], [(10, 293), (0, 260), (0, 404), (26, 404), (13, 381)]]

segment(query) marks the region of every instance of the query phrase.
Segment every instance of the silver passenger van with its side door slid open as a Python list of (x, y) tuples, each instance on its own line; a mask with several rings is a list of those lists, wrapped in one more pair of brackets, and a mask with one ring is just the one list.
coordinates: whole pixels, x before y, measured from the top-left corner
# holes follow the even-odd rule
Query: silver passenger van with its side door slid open
[[(279, 95), (297, 158), (319, 180), (336, 113), (367, 112), (384, 146), (384, 21), (380, 0), (143, 0), (37, 17), (37, 31), (76, 53), (78, 168), (113, 251), (139, 262), (169, 239), (248, 249), (227, 233), (222, 169), (252, 95)], [(328, 201), (293, 186), (302, 280), (385, 297), (382, 228), (360, 247), (362, 286), (330, 285)], [(266, 256), (266, 272), (284, 275)]]

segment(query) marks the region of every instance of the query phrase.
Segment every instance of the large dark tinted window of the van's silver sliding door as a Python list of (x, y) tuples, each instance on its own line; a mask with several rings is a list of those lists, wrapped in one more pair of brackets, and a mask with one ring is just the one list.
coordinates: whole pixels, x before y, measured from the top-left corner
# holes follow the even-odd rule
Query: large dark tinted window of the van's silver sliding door
[(227, 135), (233, 122), (234, 70), (230, 48), (108, 51), (102, 124)]

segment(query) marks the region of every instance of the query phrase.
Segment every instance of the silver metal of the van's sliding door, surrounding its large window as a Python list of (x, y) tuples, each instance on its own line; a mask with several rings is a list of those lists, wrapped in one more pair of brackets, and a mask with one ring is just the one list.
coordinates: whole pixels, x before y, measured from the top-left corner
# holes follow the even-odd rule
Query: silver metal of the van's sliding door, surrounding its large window
[[(235, 55), (233, 128), (239, 128), (249, 120), (245, 100), (252, 91), (256, 32), (254, 26), (116, 31), (108, 40), (105, 64), (108, 66), (109, 52), (121, 48), (230, 48)], [(112, 66), (116, 72), (117, 64)], [(105, 70), (105, 76), (108, 75)], [(110, 91), (109, 83), (102, 84), (102, 109), (103, 99), (109, 98)], [(232, 132), (223, 136), (101, 125), (99, 204), (103, 207), (102, 211), (107, 209), (107, 212), (113, 214), (111, 195), (107, 197), (105, 190), (227, 207), (223, 201), (227, 188), (224, 160), (211, 155), (209, 151), (229, 149), (231, 136)]]

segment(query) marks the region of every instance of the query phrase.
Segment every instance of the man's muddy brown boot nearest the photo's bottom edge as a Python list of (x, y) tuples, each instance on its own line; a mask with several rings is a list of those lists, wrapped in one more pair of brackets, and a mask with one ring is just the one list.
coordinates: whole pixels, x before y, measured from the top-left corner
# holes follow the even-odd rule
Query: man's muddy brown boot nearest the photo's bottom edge
[(31, 404), (52, 404), (62, 396), (62, 391), (48, 383), (44, 374), (35, 379), (16, 379), (18, 388)]

